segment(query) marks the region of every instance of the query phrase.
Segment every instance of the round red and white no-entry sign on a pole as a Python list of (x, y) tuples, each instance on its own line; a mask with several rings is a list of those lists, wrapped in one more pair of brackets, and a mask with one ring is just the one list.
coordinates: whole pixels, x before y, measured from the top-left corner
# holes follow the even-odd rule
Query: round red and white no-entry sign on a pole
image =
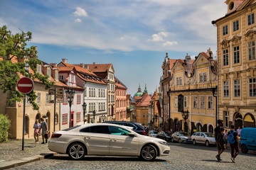
[(16, 84), (16, 87), (21, 94), (29, 94), (33, 90), (33, 86), (33, 80), (28, 77), (22, 77)]

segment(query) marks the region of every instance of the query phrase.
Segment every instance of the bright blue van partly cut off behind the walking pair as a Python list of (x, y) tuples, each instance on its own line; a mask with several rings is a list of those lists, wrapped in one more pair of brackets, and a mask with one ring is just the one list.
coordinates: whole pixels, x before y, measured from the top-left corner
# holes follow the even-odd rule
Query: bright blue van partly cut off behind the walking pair
[(240, 147), (242, 153), (246, 154), (248, 150), (256, 150), (256, 128), (242, 128), (240, 135)]

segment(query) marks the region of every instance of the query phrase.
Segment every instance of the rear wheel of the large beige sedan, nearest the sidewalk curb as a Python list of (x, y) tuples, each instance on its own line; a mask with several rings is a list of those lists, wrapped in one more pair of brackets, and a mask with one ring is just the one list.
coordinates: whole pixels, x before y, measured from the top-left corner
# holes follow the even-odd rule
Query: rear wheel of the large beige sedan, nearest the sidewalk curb
[(73, 143), (68, 147), (68, 156), (75, 160), (80, 160), (85, 157), (85, 147), (80, 143)]

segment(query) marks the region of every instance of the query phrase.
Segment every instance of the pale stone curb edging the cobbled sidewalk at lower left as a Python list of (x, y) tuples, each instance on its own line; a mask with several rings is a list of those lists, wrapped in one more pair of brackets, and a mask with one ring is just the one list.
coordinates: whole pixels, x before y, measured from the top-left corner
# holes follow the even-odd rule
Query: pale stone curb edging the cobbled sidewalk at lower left
[(21, 166), (23, 164), (28, 164), (30, 162), (36, 162), (42, 159), (46, 159), (48, 157), (53, 157), (55, 156), (57, 153), (56, 152), (50, 152), (50, 153), (43, 153), (40, 155), (35, 155), (32, 157), (26, 157), (26, 158), (22, 158), (22, 159), (17, 159), (17, 160), (12, 160), (9, 162), (0, 162), (0, 170), (1, 169), (9, 169), (9, 168), (14, 168), (16, 166)]

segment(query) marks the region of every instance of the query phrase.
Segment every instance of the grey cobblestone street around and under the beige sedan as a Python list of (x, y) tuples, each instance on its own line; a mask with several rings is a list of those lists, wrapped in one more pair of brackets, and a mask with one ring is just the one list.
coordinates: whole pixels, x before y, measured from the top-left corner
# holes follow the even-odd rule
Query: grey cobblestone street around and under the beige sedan
[(14, 169), (255, 169), (256, 153), (240, 153), (235, 163), (230, 160), (230, 149), (222, 155), (223, 161), (217, 162), (215, 147), (203, 145), (178, 144), (169, 142), (171, 154), (168, 157), (157, 157), (154, 162), (143, 162), (137, 157), (91, 157), (82, 161), (73, 161), (66, 154), (31, 162)]

